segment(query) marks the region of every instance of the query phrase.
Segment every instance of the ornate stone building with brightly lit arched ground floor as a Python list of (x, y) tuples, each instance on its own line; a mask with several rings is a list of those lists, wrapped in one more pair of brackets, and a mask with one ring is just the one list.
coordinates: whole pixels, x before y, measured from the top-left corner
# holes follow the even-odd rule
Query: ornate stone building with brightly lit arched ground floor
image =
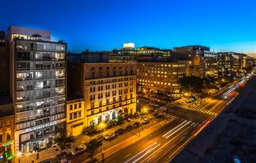
[[(136, 111), (136, 63), (70, 63), (73, 95), (85, 99), (85, 126), (96, 126)], [(72, 76), (76, 76), (73, 78)]]

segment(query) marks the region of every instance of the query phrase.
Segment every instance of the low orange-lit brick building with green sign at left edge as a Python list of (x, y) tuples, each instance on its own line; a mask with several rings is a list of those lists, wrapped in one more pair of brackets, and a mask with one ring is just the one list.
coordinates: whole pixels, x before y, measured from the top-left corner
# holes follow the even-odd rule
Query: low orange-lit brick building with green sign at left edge
[(14, 129), (15, 118), (11, 98), (0, 95), (0, 162), (7, 162), (15, 156)]

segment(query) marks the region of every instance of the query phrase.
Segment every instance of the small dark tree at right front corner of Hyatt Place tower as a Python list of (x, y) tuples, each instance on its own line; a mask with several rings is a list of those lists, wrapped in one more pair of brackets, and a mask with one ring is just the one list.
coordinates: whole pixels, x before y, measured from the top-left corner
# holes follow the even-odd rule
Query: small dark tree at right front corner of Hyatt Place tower
[(57, 133), (53, 138), (53, 143), (57, 144), (57, 146), (61, 148), (61, 155), (62, 155), (62, 151), (67, 148), (70, 148), (71, 143), (73, 142), (75, 142), (75, 139), (73, 138), (73, 136), (67, 135), (67, 133), (63, 129), (60, 129), (59, 131), (57, 131)]

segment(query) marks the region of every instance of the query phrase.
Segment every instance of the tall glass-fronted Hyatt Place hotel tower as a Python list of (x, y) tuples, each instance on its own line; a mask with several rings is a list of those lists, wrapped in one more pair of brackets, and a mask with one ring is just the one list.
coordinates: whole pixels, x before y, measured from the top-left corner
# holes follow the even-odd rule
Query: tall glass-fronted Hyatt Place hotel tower
[(67, 44), (51, 33), (11, 26), (9, 85), (15, 110), (15, 152), (46, 148), (65, 127), (65, 55)]

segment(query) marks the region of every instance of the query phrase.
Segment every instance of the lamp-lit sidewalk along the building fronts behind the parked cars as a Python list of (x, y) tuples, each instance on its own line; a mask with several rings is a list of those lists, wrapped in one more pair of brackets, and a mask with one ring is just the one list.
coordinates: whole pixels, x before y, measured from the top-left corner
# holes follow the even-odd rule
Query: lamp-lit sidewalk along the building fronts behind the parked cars
[[(148, 114), (147, 117), (149, 119), (152, 119), (152, 113)], [(117, 130), (120, 127), (126, 127), (129, 124), (134, 123), (135, 121), (139, 121), (139, 119), (132, 119), (131, 122), (127, 122), (123, 125), (117, 125), (111, 129), (105, 130), (103, 131), (103, 135), (105, 135), (106, 133), (113, 133), (115, 132), (115, 130)], [(76, 148), (77, 146), (81, 146), (82, 144), (84, 144), (85, 142), (89, 142), (90, 140), (94, 139), (94, 138), (100, 138), (101, 137), (101, 132), (99, 132), (97, 135), (94, 136), (89, 136), (89, 135), (77, 135), (75, 137), (75, 142), (71, 144), (71, 148)], [(69, 152), (70, 149), (67, 150), (63, 150), (63, 152)], [(47, 148), (46, 150), (42, 150), (40, 152), (38, 152), (39, 154), (39, 159), (38, 161), (36, 161), (36, 152), (32, 153), (32, 154), (24, 154), (22, 156), (20, 156), (20, 162), (26, 162), (26, 163), (30, 163), (34, 160), (34, 162), (42, 162), (44, 160), (51, 160), (53, 158), (56, 158), (58, 154), (61, 154), (61, 150), (58, 146), (55, 147), (51, 147), (51, 148)], [(16, 157), (14, 159), (14, 162), (19, 162), (19, 158)]]

